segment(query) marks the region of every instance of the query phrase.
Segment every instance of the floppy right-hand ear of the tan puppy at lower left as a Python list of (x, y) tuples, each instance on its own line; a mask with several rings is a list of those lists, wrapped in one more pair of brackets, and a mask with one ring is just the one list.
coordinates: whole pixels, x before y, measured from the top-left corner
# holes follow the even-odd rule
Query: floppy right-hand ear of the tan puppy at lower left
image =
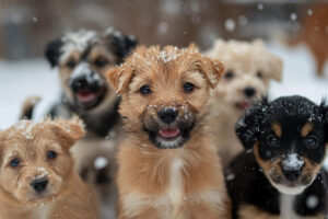
[(58, 136), (60, 145), (63, 147), (71, 147), (74, 142), (83, 138), (85, 131), (82, 120), (73, 116), (71, 119), (66, 120), (57, 118), (50, 122), (52, 131)]

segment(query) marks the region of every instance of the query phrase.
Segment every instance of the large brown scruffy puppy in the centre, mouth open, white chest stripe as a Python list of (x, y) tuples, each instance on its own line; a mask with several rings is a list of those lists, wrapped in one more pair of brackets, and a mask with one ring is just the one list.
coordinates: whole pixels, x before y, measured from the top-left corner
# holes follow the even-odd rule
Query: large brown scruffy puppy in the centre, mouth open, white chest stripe
[(207, 100), (223, 73), (190, 45), (141, 46), (108, 81), (122, 95), (118, 218), (230, 218)]

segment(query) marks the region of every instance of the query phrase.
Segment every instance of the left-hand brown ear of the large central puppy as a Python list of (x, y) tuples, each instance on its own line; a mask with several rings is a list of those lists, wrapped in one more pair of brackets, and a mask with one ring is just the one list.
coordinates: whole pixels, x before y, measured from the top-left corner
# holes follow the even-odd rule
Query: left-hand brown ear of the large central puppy
[(106, 78), (108, 83), (115, 89), (118, 95), (127, 91), (127, 88), (132, 79), (133, 68), (131, 65), (124, 64), (120, 67), (112, 68)]

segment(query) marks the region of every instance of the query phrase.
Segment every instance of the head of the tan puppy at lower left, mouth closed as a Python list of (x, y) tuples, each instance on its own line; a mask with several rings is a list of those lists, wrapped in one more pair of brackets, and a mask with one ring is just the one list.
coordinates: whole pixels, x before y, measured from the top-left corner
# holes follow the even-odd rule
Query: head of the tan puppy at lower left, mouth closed
[(21, 120), (1, 132), (0, 189), (23, 205), (51, 201), (73, 170), (69, 148), (84, 135), (72, 120)]

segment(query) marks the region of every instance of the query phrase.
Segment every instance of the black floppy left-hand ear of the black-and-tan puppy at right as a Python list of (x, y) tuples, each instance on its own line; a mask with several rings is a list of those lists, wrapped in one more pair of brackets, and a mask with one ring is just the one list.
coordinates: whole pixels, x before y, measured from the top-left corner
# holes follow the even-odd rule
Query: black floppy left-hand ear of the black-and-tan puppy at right
[(260, 134), (260, 124), (265, 118), (266, 108), (268, 107), (267, 99), (255, 104), (246, 111), (236, 124), (236, 135), (246, 150), (254, 147)]

